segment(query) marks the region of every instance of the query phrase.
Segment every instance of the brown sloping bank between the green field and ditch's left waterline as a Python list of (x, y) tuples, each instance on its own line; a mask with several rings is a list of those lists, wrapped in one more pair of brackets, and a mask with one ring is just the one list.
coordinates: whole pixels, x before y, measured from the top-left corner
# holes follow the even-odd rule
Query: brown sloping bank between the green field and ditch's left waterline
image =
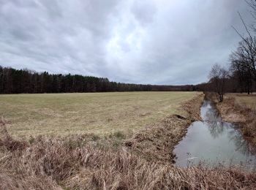
[(181, 105), (184, 115), (170, 115), (133, 135), (124, 142), (131, 153), (148, 161), (172, 163), (174, 146), (187, 133), (187, 127), (195, 120), (200, 120), (200, 106), (203, 94)]

